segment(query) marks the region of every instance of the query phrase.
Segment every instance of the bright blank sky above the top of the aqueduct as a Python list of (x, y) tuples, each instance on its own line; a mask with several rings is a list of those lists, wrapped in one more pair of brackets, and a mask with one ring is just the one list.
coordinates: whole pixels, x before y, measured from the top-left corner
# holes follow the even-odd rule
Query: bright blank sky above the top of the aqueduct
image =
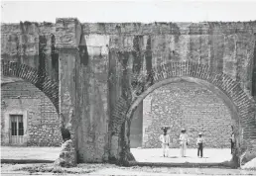
[(254, 21), (251, 1), (2, 1), (3, 23), (54, 22), (76, 17), (80, 22)]

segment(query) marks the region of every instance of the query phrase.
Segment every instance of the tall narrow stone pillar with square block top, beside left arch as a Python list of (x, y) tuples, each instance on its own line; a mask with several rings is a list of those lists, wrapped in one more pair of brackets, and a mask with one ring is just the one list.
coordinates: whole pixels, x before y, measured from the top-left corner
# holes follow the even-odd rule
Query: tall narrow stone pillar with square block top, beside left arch
[[(75, 150), (76, 138), (76, 68), (79, 64), (79, 50), (81, 25), (77, 19), (57, 19), (56, 46), (59, 52), (59, 96), (61, 128), (71, 133)], [(64, 134), (63, 134), (64, 137)], [(76, 158), (76, 156), (75, 156)]]

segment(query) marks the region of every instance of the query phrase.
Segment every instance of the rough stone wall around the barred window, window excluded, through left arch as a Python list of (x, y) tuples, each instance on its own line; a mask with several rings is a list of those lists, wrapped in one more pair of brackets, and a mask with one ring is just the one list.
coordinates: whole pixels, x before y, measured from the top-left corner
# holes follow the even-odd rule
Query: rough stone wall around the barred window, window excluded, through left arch
[(1, 145), (10, 145), (9, 127), (5, 123), (9, 113), (25, 111), (27, 131), (24, 145), (61, 146), (63, 138), (58, 113), (42, 91), (25, 81), (7, 83), (1, 86), (1, 101)]

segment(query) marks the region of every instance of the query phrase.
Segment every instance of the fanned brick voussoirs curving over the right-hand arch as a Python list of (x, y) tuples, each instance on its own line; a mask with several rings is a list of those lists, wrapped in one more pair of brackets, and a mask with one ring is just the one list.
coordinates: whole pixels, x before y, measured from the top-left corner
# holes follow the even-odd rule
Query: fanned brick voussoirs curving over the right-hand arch
[[(185, 62), (168, 62), (152, 68), (153, 84), (168, 78), (179, 76), (194, 77), (204, 80), (222, 91), (234, 104), (237, 109), (241, 123), (251, 122), (253, 126), (255, 122), (255, 101), (252, 97), (248, 96), (240, 85), (223, 72), (215, 72), (206, 64), (199, 64), (192, 61)], [(126, 103), (125, 106), (122, 98), (117, 101), (114, 114), (119, 117), (118, 123), (115, 123), (116, 131), (120, 132), (122, 124), (126, 121), (127, 116), (123, 117), (129, 111), (130, 106), (136, 101), (137, 97), (142, 94), (141, 90), (146, 91), (150, 86), (147, 86), (145, 81), (147, 74), (142, 73), (136, 75), (136, 81), (140, 84), (132, 86), (133, 95), (136, 95), (131, 103)], [(121, 106), (122, 105), (122, 106)], [(122, 108), (120, 108), (120, 106)]]

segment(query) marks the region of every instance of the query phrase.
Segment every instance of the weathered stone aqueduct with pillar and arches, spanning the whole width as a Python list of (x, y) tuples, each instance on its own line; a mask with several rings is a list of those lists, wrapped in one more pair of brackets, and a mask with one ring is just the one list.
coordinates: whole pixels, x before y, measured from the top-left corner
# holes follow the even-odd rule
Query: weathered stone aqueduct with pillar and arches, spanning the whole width
[[(237, 161), (256, 148), (256, 22), (2, 24), (2, 76), (42, 90), (71, 132), (79, 162), (127, 163), (136, 107), (181, 80), (207, 87), (231, 110)], [(121, 161), (121, 162), (120, 162)]]

